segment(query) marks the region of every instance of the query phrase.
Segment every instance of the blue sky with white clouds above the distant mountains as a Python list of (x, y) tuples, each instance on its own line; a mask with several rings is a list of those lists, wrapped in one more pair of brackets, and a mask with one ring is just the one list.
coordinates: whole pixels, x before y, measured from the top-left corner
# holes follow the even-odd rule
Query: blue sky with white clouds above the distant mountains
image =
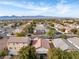
[(0, 0), (0, 16), (79, 17), (79, 0)]

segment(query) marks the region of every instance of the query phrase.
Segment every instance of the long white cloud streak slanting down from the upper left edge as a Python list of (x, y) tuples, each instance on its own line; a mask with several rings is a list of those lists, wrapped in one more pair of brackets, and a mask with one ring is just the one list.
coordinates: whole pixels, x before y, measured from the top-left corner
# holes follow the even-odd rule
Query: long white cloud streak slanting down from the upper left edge
[[(25, 3), (25, 2), (24, 2)], [(33, 2), (29, 2), (29, 3), (26, 3), (26, 4), (21, 4), (21, 3), (16, 3), (16, 2), (0, 2), (0, 4), (5, 4), (5, 5), (12, 5), (12, 6), (15, 6), (15, 7), (20, 7), (20, 8), (24, 8), (24, 9), (30, 9), (30, 10), (33, 10), (33, 11), (43, 11), (43, 10), (46, 10), (48, 9), (49, 7), (45, 7), (45, 6), (36, 6), (34, 5)]]

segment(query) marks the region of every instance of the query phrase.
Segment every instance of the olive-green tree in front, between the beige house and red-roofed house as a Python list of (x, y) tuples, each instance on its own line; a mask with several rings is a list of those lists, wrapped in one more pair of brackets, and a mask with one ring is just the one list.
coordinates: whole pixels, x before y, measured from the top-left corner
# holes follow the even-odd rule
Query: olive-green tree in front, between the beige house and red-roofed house
[(36, 50), (33, 46), (22, 47), (19, 51), (19, 59), (36, 59)]

